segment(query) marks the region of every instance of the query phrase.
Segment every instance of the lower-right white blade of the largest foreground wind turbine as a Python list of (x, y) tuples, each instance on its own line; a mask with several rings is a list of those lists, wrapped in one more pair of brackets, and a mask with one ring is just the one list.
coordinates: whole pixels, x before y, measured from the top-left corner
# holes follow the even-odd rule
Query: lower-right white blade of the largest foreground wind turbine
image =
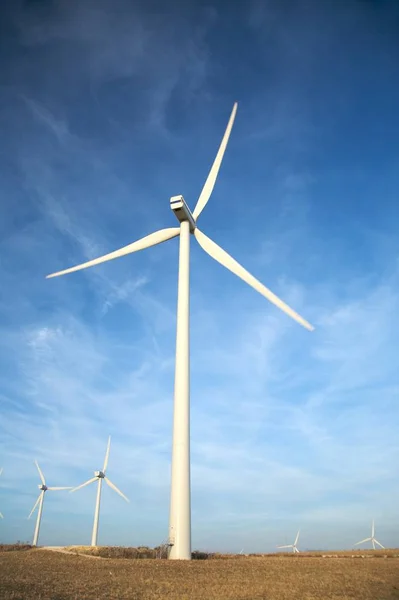
[(314, 327), (305, 321), (298, 313), (296, 313), (292, 308), (290, 308), (285, 302), (280, 300), (273, 292), (271, 292), (266, 286), (263, 285), (260, 281), (258, 281), (251, 273), (249, 273), (243, 266), (240, 265), (230, 254), (227, 254), (223, 248), (218, 246), (214, 241), (212, 241), (208, 236), (206, 236), (202, 231), (198, 228), (194, 230), (194, 235), (196, 237), (197, 242), (201, 246), (203, 250), (209, 256), (211, 256), (214, 260), (219, 262), (221, 265), (229, 269), (232, 273), (240, 277), (245, 283), (254, 288), (257, 292), (259, 292), (262, 296), (267, 298), (272, 304), (277, 306), (280, 310), (285, 312), (292, 319), (297, 321), (300, 325), (309, 329), (309, 331), (313, 331)]

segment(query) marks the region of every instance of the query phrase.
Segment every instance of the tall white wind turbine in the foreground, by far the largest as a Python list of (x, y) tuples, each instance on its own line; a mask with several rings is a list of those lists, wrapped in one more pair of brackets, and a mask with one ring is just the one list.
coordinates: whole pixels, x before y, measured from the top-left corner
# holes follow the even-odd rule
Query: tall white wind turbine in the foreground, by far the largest
[(189, 333), (189, 274), (190, 274), (190, 234), (207, 254), (232, 273), (240, 277), (245, 283), (253, 287), (275, 306), (289, 315), (292, 319), (310, 331), (312, 325), (305, 321), (298, 313), (280, 300), (273, 292), (255, 279), (243, 266), (232, 258), (225, 250), (207, 237), (197, 227), (197, 220), (205, 208), (216, 182), (216, 178), (230, 137), (231, 129), (237, 111), (237, 103), (227, 124), (218, 153), (211, 167), (207, 180), (200, 193), (197, 204), (190, 211), (183, 196), (173, 196), (170, 207), (180, 223), (179, 227), (170, 227), (150, 233), (146, 237), (124, 246), (100, 258), (89, 260), (76, 267), (58, 271), (47, 275), (47, 278), (65, 275), (93, 267), (100, 263), (156, 246), (174, 237), (180, 236), (179, 250), (179, 275), (177, 293), (177, 332), (176, 332), (176, 365), (175, 365), (175, 390), (173, 410), (173, 442), (172, 442), (172, 473), (170, 490), (169, 513), (169, 542), (171, 550), (169, 558), (191, 558), (191, 500), (190, 500), (190, 333)]

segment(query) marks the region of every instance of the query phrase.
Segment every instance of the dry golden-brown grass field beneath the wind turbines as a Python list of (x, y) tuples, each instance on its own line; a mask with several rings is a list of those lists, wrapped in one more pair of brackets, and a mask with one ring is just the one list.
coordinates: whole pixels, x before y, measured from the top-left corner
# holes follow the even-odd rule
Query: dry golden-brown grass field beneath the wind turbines
[[(7, 551), (6, 551), (7, 550)], [(0, 547), (7, 600), (393, 600), (399, 552), (238, 556), (172, 562)], [(79, 554), (77, 553), (79, 552)], [(89, 551), (90, 552), (90, 551)], [(108, 551), (108, 554), (110, 552)], [(112, 553), (111, 553), (112, 554)], [(120, 553), (119, 553), (120, 555)]]

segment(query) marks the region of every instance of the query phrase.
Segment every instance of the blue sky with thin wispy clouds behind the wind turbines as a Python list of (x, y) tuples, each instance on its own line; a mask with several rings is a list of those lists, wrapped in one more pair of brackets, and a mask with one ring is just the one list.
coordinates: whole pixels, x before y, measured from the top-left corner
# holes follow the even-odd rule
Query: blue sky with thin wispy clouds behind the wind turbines
[[(146, 7), (145, 7), (146, 4)], [(101, 544), (167, 536), (178, 241), (234, 101), (201, 229), (309, 333), (192, 243), (193, 547), (399, 539), (396, 2), (21, 2), (0, 36), (1, 540), (102, 465)], [(89, 543), (95, 490), (41, 543)]]

